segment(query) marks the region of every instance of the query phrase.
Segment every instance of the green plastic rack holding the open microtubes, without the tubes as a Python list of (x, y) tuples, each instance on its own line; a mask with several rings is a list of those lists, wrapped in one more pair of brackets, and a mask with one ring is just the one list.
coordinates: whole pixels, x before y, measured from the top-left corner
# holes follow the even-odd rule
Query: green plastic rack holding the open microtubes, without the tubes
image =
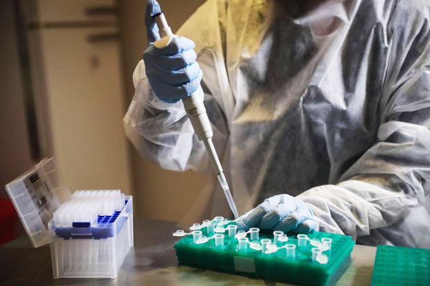
[[(225, 224), (225, 227), (228, 224)], [(208, 235), (206, 227), (200, 231), (206, 237), (213, 235)], [(334, 285), (350, 265), (351, 251), (355, 244), (350, 236), (313, 231), (308, 234), (309, 240), (305, 247), (298, 247), (297, 235), (288, 237), (288, 242), (283, 242), (282, 245), (295, 244), (295, 258), (287, 258), (286, 249), (270, 254), (249, 247), (248, 250), (241, 251), (238, 240), (229, 237), (227, 233), (221, 247), (216, 246), (213, 239), (196, 244), (193, 242), (193, 235), (188, 234), (179, 240), (174, 248), (179, 265), (300, 285)], [(261, 242), (264, 238), (273, 243), (272, 232), (260, 231), (258, 241)], [(315, 247), (309, 243), (310, 240), (320, 241), (322, 238), (332, 239), (331, 249), (322, 252), (328, 258), (324, 264), (312, 260), (311, 249)]]

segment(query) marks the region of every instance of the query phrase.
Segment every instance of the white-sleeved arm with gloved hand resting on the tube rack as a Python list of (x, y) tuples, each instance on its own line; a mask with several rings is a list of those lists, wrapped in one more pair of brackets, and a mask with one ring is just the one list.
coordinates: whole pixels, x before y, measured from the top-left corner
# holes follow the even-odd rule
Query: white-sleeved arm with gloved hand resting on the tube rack
[(376, 142), (341, 182), (311, 188), (297, 197), (270, 197), (241, 217), (239, 229), (257, 225), (307, 232), (318, 229), (317, 222), (320, 231), (356, 238), (389, 226), (408, 208), (424, 204), (430, 194), (429, 27), (427, 7), (393, 13)]

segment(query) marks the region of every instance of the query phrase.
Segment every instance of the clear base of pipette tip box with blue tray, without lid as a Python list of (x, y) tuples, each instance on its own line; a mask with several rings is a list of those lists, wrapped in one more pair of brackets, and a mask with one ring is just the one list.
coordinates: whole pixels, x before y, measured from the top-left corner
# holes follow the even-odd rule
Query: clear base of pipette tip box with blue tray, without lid
[(50, 226), (54, 278), (117, 278), (133, 245), (132, 197), (121, 211), (98, 215), (97, 222)]

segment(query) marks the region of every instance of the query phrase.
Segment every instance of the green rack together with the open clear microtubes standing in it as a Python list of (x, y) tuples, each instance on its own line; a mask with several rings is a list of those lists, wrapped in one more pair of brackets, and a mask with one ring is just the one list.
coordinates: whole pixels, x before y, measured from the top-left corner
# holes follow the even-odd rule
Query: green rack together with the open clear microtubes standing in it
[[(307, 235), (283, 235), (282, 242), (275, 241), (271, 232), (257, 231), (257, 239), (252, 239), (252, 233), (246, 233), (239, 242), (228, 231), (229, 225), (235, 222), (227, 220), (214, 230), (214, 226), (208, 229), (209, 224), (200, 224), (200, 229), (191, 226), (194, 229), (191, 233), (173, 234), (184, 235), (174, 246), (179, 265), (300, 285), (334, 285), (350, 265), (355, 244), (350, 236), (316, 231)], [(196, 229), (201, 231), (197, 240)], [(221, 238), (216, 241), (218, 234), (223, 235), (222, 241)], [(243, 241), (247, 245), (239, 245)], [(331, 242), (330, 247), (324, 241)]]

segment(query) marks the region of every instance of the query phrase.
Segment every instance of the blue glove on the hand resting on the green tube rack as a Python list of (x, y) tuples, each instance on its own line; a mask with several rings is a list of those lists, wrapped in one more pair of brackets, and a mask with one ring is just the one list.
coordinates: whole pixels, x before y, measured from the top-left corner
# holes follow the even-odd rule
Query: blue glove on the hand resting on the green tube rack
[(251, 227), (309, 233), (318, 226), (311, 208), (291, 195), (275, 195), (265, 199), (256, 208), (239, 217), (238, 230), (248, 231)]

